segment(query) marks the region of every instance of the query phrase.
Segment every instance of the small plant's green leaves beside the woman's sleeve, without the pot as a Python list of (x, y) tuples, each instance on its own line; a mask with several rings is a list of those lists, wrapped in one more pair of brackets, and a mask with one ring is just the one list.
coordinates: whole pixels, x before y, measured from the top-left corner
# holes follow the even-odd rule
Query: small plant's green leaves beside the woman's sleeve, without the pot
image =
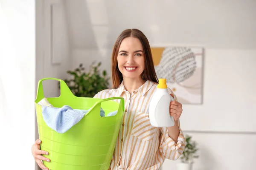
[(186, 136), (186, 147), (180, 157), (183, 163), (193, 163), (194, 159), (198, 158), (197, 155), (198, 147), (197, 143), (192, 140), (192, 136)]

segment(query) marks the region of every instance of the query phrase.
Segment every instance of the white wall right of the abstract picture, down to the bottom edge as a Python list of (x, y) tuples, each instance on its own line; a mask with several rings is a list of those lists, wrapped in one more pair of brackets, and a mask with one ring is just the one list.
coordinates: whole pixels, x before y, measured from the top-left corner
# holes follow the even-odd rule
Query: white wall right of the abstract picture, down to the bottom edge
[[(199, 144), (195, 170), (255, 168), (255, 56), (256, 50), (206, 49), (203, 105), (183, 105), (180, 120)], [(162, 168), (178, 162), (166, 160)]]

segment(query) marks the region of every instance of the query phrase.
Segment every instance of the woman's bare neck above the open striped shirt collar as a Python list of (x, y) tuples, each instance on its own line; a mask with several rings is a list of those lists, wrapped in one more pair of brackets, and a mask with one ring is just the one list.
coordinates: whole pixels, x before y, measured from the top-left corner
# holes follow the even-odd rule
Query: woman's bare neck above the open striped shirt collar
[(141, 78), (138, 79), (129, 79), (129, 78), (125, 78), (123, 79), (123, 84), (125, 86), (125, 89), (131, 94), (133, 91), (135, 91), (136, 89), (140, 88), (140, 86), (142, 86), (144, 83), (146, 82), (146, 80), (143, 80)]

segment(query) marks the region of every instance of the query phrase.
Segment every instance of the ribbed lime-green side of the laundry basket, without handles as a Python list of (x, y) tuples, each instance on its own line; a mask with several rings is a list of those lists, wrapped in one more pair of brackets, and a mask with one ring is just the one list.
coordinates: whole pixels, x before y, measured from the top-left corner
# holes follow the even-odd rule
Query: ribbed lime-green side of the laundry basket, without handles
[(41, 150), (47, 150), (44, 156), (51, 160), (43, 163), (50, 170), (108, 170), (122, 116), (84, 116), (67, 132), (57, 133), (44, 122), (41, 106), (36, 105), (36, 112)]

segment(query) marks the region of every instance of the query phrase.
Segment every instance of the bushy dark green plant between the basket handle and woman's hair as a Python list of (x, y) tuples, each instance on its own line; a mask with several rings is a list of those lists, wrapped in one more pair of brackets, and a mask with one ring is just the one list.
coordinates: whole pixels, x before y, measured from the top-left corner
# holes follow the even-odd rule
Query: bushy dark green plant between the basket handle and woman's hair
[(64, 79), (72, 93), (78, 97), (93, 97), (99, 91), (109, 88), (109, 77), (105, 70), (100, 74), (101, 62), (90, 65), (88, 72), (84, 71), (83, 64), (80, 64), (74, 71), (67, 71), (73, 79)]

